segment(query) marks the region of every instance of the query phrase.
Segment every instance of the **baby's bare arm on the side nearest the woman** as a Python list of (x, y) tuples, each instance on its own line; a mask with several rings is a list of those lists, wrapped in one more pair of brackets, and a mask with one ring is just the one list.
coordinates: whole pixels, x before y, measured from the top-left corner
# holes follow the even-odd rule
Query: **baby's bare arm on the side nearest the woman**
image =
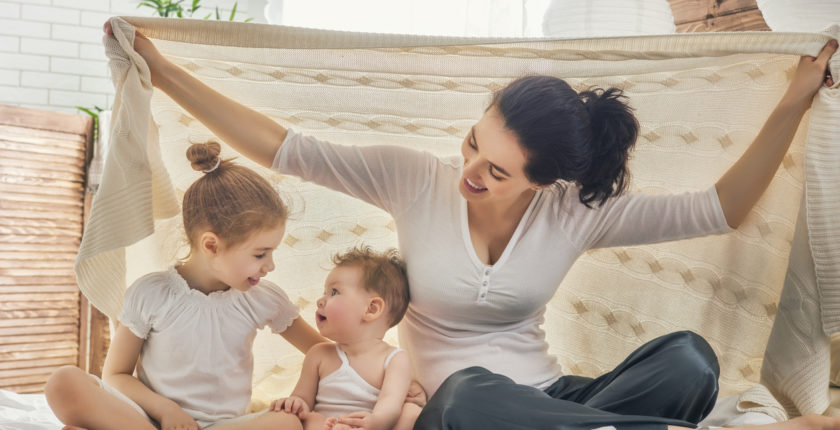
[[(400, 413), (403, 410), (405, 396), (408, 394), (410, 384), (411, 364), (408, 353), (399, 352), (394, 355), (385, 370), (385, 379), (382, 381), (382, 389), (379, 390), (379, 398), (376, 400), (376, 405), (373, 406), (373, 411), (370, 413), (356, 412), (342, 416), (338, 419), (338, 423), (364, 430), (390, 430), (394, 428), (397, 420), (400, 419)], [(337, 425), (335, 428), (342, 428), (342, 426)]]

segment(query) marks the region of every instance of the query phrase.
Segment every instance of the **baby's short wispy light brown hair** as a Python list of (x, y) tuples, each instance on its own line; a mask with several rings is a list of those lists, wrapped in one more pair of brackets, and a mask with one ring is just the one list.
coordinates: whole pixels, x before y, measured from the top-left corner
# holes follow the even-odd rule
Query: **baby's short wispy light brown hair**
[(333, 256), (333, 263), (335, 267), (360, 267), (364, 289), (385, 301), (388, 326), (393, 327), (402, 320), (408, 309), (408, 276), (405, 262), (396, 249), (376, 252), (369, 246), (355, 247)]

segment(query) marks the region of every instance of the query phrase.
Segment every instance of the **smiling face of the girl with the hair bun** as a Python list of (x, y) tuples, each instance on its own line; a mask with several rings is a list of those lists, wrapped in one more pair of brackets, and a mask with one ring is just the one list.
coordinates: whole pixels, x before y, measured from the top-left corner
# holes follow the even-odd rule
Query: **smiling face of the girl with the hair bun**
[(274, 250), (280, 246), (285, 224), (260, 230), (244, 242), (230, 248), (220, 245), (219, 253), (211, 265), (212, 275), (231, 288), (248, 291), (260, 278), (274, 270)]

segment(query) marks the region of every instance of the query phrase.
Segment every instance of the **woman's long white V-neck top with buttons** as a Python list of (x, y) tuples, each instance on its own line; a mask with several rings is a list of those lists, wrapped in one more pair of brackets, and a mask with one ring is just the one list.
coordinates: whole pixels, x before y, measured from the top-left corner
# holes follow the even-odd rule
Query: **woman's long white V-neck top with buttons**
[(490, 266), (470, 240), (458, 191), (462, 166), (461, 157), (335, 145), (291, 130), (273, 165), (394, 217), (411, 289), (400, 345), (429, 395), (469, 366), (542, 389), (561, 376), (540, 324), (546, 303), (586, 250), (731, 231), (714, 186), (676, 195), (630, 193), (589, 209), (577, 187), (558, 184), (536, 193)]

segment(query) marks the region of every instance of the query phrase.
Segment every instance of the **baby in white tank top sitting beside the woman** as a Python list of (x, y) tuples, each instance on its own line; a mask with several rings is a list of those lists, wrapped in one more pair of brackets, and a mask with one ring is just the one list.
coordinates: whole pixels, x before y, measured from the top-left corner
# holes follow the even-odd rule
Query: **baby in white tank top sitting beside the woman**
[(297, 415), (306, 430), (411, 429), (420, 407), (403, 405), (411, 382), (408, 354), (382, 340), (408, 307), (405, 263), (396, 250), (370, 248), (333, 262), (315, 320), (335, 343), (306, 353), (292, 395), (270, 409)]

